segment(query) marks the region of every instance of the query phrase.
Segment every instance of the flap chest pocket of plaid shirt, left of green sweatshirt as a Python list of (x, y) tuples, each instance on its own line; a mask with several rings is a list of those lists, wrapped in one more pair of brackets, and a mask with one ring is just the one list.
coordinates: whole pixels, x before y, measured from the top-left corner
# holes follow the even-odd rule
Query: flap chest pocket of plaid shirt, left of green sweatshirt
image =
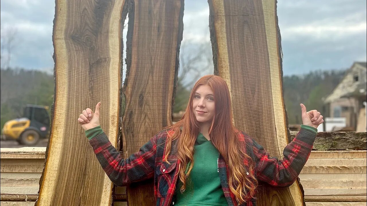
[(174, 176), (174, 171), (177, 165), (177, 162), (170, 162), (169, 165), (167, 162), (160, 162), (157, 165), (156, 173), (158, 180), (158, 196), (166, 197), (168, 189), (172, 183), (172, 179)]

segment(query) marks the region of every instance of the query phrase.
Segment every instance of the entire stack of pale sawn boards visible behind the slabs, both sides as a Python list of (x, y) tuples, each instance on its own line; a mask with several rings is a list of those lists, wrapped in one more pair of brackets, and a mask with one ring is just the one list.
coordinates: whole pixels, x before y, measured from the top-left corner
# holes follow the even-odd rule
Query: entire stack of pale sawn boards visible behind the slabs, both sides
[[(1, 206), (33, 206), (46, 148), (1, 148)], [(366, 206), (366, 150), (312, 151), (299, 175), (306, 206)], [(114, 206), (127, 205), (116, 187)]]

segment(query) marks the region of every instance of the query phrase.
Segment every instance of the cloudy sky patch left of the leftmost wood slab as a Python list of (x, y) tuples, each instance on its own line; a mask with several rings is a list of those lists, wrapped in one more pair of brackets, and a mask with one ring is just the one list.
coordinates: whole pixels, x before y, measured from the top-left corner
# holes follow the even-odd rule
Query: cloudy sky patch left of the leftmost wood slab
[(53, 71), (54, 1), (1, 1), (1, 36), (15, 30), (11, 67)]

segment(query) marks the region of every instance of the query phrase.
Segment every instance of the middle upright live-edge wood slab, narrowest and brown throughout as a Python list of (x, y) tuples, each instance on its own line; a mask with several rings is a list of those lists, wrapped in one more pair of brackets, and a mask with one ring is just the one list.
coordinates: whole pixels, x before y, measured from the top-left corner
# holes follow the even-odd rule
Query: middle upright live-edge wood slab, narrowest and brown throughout
[[(125, 158), (172, 123), (183, 30), (183, 0), (131, 0), (129, 6), (121, 131)], [(153, 180), (131, 184), (127, 193), (129, 206), (156, 204)]]

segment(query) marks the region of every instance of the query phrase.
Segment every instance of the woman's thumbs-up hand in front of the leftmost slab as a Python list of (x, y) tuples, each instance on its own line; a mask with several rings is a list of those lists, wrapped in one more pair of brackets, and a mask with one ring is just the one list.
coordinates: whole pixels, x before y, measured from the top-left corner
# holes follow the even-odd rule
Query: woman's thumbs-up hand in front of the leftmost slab
[(99, 126), (99, 110), (101, 109), (101, 104), (101, 102), (97, 103), (94, 113), (90, 108), (86, 108), (79, 115), (78, 123), (84, 130)]

